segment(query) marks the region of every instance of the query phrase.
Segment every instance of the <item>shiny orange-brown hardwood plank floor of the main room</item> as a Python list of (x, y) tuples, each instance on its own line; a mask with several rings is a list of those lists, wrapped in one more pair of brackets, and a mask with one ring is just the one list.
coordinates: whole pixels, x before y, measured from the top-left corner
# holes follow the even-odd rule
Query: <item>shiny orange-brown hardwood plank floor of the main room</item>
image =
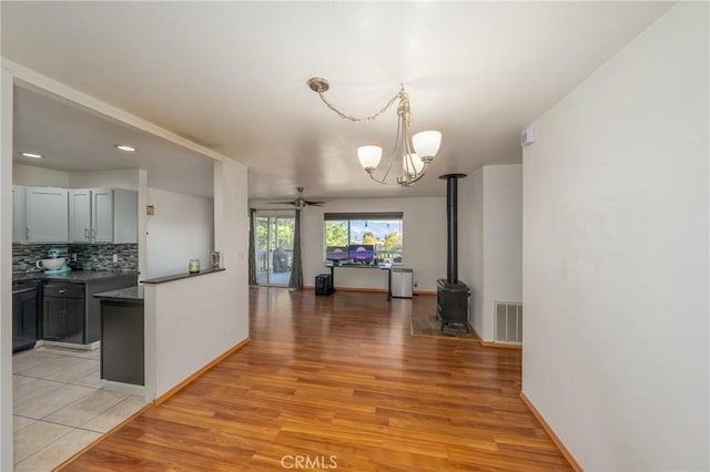
[(409, 335), (435, 297), (250, 294), (250, 343), (65, 470), (571, 470), (519, 351)]

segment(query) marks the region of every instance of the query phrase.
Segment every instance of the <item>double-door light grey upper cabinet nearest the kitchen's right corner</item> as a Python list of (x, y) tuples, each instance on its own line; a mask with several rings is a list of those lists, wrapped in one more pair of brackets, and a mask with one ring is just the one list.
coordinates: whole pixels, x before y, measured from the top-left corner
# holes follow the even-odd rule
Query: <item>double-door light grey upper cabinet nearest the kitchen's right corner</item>
[(136, 243), (138, 193), (111, 188), (69, 191), (71, 243)]

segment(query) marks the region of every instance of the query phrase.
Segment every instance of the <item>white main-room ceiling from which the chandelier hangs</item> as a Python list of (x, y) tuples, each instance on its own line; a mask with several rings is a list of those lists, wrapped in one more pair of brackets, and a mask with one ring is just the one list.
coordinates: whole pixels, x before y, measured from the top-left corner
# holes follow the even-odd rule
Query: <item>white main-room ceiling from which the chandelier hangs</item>
[[(520, 162), (520, 131), (670, 6), (2, 1), (0, 20), (4, 58), (244, 163), (251, 198), (304, 186), (327, 199), (444, 195), (440, 174)], [(404, 84), (414, 132), (444, 135), (427, 176), (412, 188), (372, 182), (355, 150), (389, 148), (396, 110), (342, 120), (311, 76), (328, 79), (326, 96), (359, 116)], [(142, 140), (142, 156), (126, 161), (106, 146), (134, 130), (49, 102), (26, 91), (16, 106), (16, 151), (45, 150), (42, 165), (142, 165), (168, 189), (211, 175), (194, 153), (144, 133), (125, 135)]]

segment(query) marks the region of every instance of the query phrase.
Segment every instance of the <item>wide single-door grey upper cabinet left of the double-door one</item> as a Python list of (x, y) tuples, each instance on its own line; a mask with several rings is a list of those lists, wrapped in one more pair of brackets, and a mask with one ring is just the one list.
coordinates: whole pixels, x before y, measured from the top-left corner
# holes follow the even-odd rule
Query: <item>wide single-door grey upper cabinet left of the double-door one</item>
[(69, 240), (68, 195), (69, 192), (65, 188), (24, 187), (24, 242), (67, 243)]

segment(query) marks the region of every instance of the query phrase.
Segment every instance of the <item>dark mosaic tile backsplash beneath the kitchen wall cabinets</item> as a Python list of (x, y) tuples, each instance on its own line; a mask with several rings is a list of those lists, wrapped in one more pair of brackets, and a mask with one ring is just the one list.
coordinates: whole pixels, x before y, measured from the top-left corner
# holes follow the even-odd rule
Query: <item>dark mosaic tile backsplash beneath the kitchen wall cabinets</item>
[[(12, 271), (39, 273), (37, 261), (47, 257), (52, 247), (67, 247), (77, 254), (77, 261), (70, 263), (84, 270), (138, 270), (138, 244), (13, 244)], [(119, 256), (116, 263), (113, 255)]]

